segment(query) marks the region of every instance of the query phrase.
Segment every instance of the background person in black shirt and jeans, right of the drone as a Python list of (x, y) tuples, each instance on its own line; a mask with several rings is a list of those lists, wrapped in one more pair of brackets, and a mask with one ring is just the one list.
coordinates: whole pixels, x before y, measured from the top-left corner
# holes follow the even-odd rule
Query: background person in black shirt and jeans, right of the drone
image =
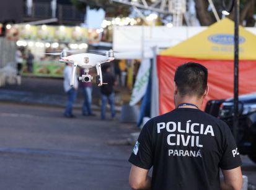
[(103, 81), (106, 84), (100, 87), (101, 101), (102, 101), (101, 119), (105, 119), (107, 101), (110, 104), (111, 116), (113, 119), (115, 118), (115, 94), (113, 92), (113, 86), (116, 85), (115, 77), (111, 73), (109, 64), (105, 64), (104, 66), (102, 66), (102, 72), (103, 72)]

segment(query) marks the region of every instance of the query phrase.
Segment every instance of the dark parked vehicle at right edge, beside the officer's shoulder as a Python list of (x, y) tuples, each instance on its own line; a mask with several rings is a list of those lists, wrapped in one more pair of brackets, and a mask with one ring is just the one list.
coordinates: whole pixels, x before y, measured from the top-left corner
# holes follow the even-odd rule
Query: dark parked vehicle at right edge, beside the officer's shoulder
[[(210, 100), (206, 113), (217, 116), (233, 128), (233, 98), (227, 100)], [(239, 96), (239, 129), (237, 147), (243, 155), (256, 163), (256, 93)]]

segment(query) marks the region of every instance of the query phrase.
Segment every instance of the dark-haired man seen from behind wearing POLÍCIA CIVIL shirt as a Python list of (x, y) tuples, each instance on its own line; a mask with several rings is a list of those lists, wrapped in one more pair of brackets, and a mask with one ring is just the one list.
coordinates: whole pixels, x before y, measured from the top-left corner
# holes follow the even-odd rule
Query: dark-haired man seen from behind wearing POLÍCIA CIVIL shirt
[[(231, 130), (201, 111), (209, 92), (208, 71), (198, 63), (179, 66), (175, 110), (145, 124), (131, 153), (133, 189), (241, 189), (241, 158)], [(153, 167), (152, 179), (148, 171)], [(220, 182), (219, 168), (224, 180)]]

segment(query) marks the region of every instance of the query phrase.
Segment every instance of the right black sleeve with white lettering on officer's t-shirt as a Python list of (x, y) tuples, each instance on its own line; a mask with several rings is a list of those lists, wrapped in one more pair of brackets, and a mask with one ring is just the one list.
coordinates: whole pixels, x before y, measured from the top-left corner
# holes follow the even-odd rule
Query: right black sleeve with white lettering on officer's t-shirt
[(242, 161), (237, 149), (236, 140), (225, 123), (224, 129), (224, 143), (223, 143), (223, 155), (219, 162), (219, 167), (223, 170), (231, 170), (242, 165)]

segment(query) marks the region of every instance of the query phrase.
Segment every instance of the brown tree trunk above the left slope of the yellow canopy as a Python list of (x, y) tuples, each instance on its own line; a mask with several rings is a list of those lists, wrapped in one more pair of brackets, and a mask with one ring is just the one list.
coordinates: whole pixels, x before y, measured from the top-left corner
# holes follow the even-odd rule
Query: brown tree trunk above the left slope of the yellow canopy
[(208, 11), (208, 1), (195, 0), (196, 14), (202, 26), (208, 26), (214, 23), (214, 19)]

